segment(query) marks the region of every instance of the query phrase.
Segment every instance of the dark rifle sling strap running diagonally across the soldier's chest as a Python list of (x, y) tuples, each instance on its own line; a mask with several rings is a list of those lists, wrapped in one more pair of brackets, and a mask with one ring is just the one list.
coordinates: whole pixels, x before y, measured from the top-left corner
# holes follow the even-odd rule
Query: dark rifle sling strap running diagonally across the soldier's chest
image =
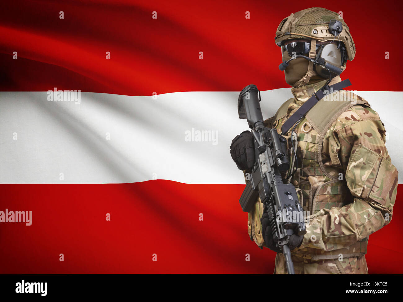
[[(332, 86), (328, 86), (328, 91), (330, 92), (330, 88), (333, 88), (333, 92), (335, 92), (350, 85), (351, 82), (349, 79), (347, 79)], [(318, 92), (312, 94), (308, 101), (306, 101), (301, 107), (299, 107), (298, 110), (295, 111), (295, 113), (291, 115), (287, 121), (285, 121), (285, 123), (281, 127), (281, 135), (287, 133), (287, 131), (290, 130), (291, 127), (294, 126), (294, 124), (298, 122), (303, 115), (305, 115), (312, 107), (314, 107), (316, 103), (323, 99), (323, 96), (323, 89), (320, 89)]]

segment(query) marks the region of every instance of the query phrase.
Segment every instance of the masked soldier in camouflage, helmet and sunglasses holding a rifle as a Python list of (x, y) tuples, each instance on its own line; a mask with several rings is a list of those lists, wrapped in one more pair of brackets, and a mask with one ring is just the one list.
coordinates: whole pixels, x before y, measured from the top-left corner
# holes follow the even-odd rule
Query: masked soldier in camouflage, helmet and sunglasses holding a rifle
[[(294, 97), (265, 126), (287, 138), (293, 163), (289, 172), (294, 173), (285, 181), (296, 187), (310, 215), (307, 233), (290, 239), (295, 273), (368, 274), (368, 237), (392, 219), (398, 172), (378, 113), (360, 96), (341, 90), (348, 85), (341, 85), (339, 72), (332, 68), (344, 71), (347, 60), (354, 59), (349, 27), (335, 12), (309, 8), (281, 21), (275, 41)], [(329, 89), (334, 84), (339, 90)], [(324, 98), (301, 117), (291, 118), (322, 88), (328, 92)], [(233, 139), (231, 156), (244, 173), (250, 171), (255, 162), (251, 132)], [(278, 252), (260, 199), (248, 213), (248, 233), (259, 247)], [(274, 273), (287, 273), (282, 253), (276, 255)]]

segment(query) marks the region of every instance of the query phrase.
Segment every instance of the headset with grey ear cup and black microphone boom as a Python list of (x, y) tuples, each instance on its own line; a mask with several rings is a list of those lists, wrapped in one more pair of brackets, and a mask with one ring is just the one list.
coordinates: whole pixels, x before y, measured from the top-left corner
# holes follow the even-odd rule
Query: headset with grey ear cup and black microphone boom
[[(330, 20), (329, 31), (334, 35), (334, 38), (337, 37), (339, 39), (339, 34), (343, 31), (343, 25), (341, 24), (340, 21)], [(297, 58), (304, 58), (314, 63), (314, 69), (320, 76), (324, 78), (334, 78), (335, 76), (339, 76), (340, 73), (343, 71), (341, 67), (345, 65), (345, 63), (347, 62), (347, 52), (340, 39), (338, 45), (333, 44), (332, 42), (320, 45), (317, 50), (315, 59), (311, 59), (302, 54), (295, 55), (288, 61), (283, 61), (283, 63), (281, 63), (278, 66), (278, 68), (284, 71), (289, 65), (289, 62), (291, 60)], [(296, 42), (296, 43), (304, 43), (304, 42)], [(302, 47), (301, 49), (305, 49), (303, 53), (307, 53), (306, 46), (301, 47)]]

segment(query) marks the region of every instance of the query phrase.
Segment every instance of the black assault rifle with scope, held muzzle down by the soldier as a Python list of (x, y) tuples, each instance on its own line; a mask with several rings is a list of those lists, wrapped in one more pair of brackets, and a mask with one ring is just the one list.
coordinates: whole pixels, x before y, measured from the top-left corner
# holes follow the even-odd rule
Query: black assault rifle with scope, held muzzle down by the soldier
[(295, 274), (288, 246), (293, 234), (304, 235), (306, 227), (295, 187), (283, 182), (281, 172), (290, 167), (286, 139), (274, 128), (264, 126), (260, 109), (260, 91), (248, 85), (239, 94), (238, 115), (247, 120), (255, 143), (255, 164), (239, 204), (250, 212), (258, 196), (268, 214), (274, 243), (284, 254), (287, 272)]

